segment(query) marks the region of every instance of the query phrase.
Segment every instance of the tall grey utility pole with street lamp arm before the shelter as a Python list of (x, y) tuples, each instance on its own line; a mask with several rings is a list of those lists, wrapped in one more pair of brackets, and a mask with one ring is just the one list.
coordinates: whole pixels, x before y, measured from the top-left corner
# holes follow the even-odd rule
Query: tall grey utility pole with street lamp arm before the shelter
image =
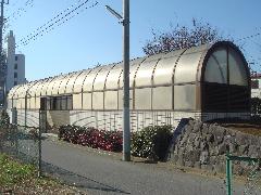
[(129, 0), (123, 0), (123, 16), (105, 6), (123, 25), (123, 160), (130, 161), (129, 125)]

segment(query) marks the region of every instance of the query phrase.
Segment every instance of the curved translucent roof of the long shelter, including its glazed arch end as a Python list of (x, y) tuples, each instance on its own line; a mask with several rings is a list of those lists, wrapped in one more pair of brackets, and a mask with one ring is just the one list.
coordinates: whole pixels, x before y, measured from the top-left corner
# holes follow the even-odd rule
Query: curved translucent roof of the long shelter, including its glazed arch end
[[(229, 73), (225, 63), (229, 64)], [(229, 76), (228, 76), (229, 75)], [(129, 87), (145, 88), (196, 82), (249, 84), (250, 74), (239, 49), (228, 41), (203, 44), (146, 57), (129, 63)], [(123, 63), (98, 66), (33, 81), (11, 89), (9, 99), (60, 95), (123, 88)]]

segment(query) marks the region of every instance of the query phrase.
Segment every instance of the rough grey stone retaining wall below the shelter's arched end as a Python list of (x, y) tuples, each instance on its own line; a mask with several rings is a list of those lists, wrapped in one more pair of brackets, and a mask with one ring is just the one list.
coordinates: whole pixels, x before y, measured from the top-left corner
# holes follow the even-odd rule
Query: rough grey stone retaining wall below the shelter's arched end
[[(171, 160), (185, 167), (225, 172), (225, 154), (261, 158), (261, 136), (245, 134), (216, 123), (189, 120), (171, 150)], [(246, 162), (235, 161), (234, 173), (247, 171)]]

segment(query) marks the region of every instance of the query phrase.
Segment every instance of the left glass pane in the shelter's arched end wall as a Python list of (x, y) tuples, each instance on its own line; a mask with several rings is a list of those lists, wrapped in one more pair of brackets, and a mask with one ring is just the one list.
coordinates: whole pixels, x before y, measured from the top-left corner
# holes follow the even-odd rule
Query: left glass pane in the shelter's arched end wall
[(204, 81), (227, 83), (227, 54), (225, 48), (214, 51), (207, 63)]

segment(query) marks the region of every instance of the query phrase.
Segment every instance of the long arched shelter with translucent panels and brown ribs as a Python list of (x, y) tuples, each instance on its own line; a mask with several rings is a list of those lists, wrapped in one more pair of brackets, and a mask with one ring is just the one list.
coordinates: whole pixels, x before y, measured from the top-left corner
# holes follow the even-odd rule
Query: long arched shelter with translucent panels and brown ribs
[[(132, 129), (250, 116), (250, 74), (228, 41), (130, 61)], [(14, 87), (9, 108), (48, 112), (50, 126), (122, 128), (123, 63), (98, 66)], [(35, 115), (36, 116), (36, 115)], [(22, 117), (23, 118), (23, 117)]]

